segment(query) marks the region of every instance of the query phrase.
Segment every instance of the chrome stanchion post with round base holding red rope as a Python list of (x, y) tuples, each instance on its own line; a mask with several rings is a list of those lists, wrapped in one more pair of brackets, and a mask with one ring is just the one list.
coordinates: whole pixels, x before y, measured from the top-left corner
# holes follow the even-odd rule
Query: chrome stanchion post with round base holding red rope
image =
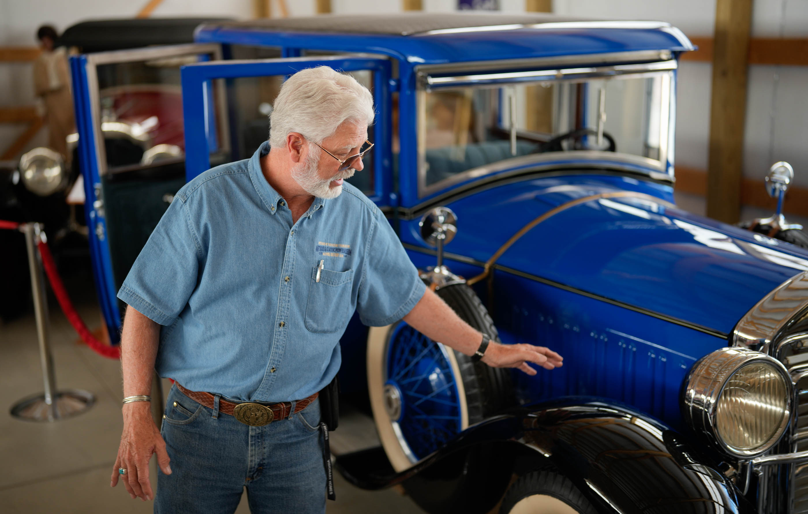
[(19, 400), (11, 406), (11, 416), (29, 421), (56, 421), (84, 412), (95, 403), (95, 396), (87, 391), (57, 391), (53, 370), (53, 353), (48, 334), (48, 296), (45, 293), (42, 261), (37, 249), (44, 233), (40, 224), (23, 224), (19, 228), (25, 235), (28, 251), (28, 270), (31, 272), (31, 290), (36, 316), (36, 335), (40, 346), (40, 366), (44, 392)]

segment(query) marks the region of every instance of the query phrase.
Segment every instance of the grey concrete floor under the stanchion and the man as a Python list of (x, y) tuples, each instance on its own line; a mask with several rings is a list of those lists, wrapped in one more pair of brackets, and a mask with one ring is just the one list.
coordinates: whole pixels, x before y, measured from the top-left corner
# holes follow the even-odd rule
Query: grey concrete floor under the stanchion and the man
[[(74, 279), (69, 289), (78, 299), (80, 315), (95, 328), (99, 309), (88, 280), (89, 276), (78, 282)], [(6, 402), (0, 414), (0, 512), (152, 512), (151, 502), (129, 499), (122, 485), (109, 487), (123, 426), (119, 362), (99, 357), (80, 344), (56, 303), (50, 306), (50, 321), (57, 386), (90, 391), (95, 405), (80, 416), (56, 423), (13, 418), (9, 413), (12, 403), (42, 391), (36, 325), (32, 311), (5, 324), (0, 321), (0, 391)], [(331, 448), (343, 453), (377, 445), (377, 441), (372, 419), (354, 411), (340, 420), (339, 430), (332, 433)], [(327, 502), (329, 514), (423, 512), (398, 491), (363, 491), (339, 473), (335, 473), (335, 487), (337, 501)], [(237, 512), (250, 512), (246, 498)]]

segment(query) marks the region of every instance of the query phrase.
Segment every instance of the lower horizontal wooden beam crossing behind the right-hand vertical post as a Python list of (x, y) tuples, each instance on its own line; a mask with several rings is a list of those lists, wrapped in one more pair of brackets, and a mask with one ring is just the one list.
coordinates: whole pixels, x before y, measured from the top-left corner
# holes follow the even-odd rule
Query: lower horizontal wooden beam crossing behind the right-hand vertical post
[[(676, 166), (675, 191), (685, 194), (705, 196), (707, 194), (707, 172), (704, 169)], [(770, 197), (762, 178), (743, 178), (741, 182), (741, 203), (753, 207), (774, 210), (777, 202)], [(783, 211), (800, 216), (808, 216), (808, 187), (791, 186), (785, 194)]]

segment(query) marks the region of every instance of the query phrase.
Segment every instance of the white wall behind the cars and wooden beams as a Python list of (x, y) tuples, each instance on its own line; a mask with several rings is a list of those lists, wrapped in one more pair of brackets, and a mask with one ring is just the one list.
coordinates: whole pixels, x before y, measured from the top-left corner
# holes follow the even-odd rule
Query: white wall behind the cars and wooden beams
[[(57, 29), (83, 19), (134, 15), (146, 0), (0, 0), (0, 44), (35, 44), (42, 23)], [(314, 14), (315, 0), (287, 0), (290, 14)], [(424, 10), (449, 12), (456, 0), (424, 0)], [(164, 0), (155, 16), (225, 15), (246, 18), (251, 0)], [(332, 0), (335, 13), (393, 13), (401, 0)], [(501, 10), (520, 12), (524, 0), (500, 0)], [(277, 12), (277, 5), (273, 5)], [(559, 15), (594, 19), (656, 19), (690, 36), (712, 36), (715, 0), (554, 0)], [(808, 37), (806, 0), (755, 0), (755, 37)], [(0, 106), (33, 102), (27, 65), (0, 64)], [(676, 162), (707, 169), (712, 66), (684, 62), (679, 70)], [(795, 182), (808, 186), (808, 67), (752, 66), (747, 100), (744, 173), (761, 178), (771, 161), (794, 165)], [(0, 148), (23, 127), (0, 125)], [(762, 187), (762, 186), (761, 186)]]

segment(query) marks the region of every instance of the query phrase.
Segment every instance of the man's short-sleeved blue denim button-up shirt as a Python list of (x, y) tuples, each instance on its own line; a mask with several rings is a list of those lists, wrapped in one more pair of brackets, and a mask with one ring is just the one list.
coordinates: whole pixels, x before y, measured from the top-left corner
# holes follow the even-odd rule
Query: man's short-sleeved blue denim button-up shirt
[(261, 173), (268, 152), (264, 143), (183, 186), (118, 292), (163, 325), (158, 374), (191, 391), (305, 398), (339, 370), (339, 338), (355, 310), (383, 326), (423, 296), (389, 222), (347, 182), (292, 224)]

